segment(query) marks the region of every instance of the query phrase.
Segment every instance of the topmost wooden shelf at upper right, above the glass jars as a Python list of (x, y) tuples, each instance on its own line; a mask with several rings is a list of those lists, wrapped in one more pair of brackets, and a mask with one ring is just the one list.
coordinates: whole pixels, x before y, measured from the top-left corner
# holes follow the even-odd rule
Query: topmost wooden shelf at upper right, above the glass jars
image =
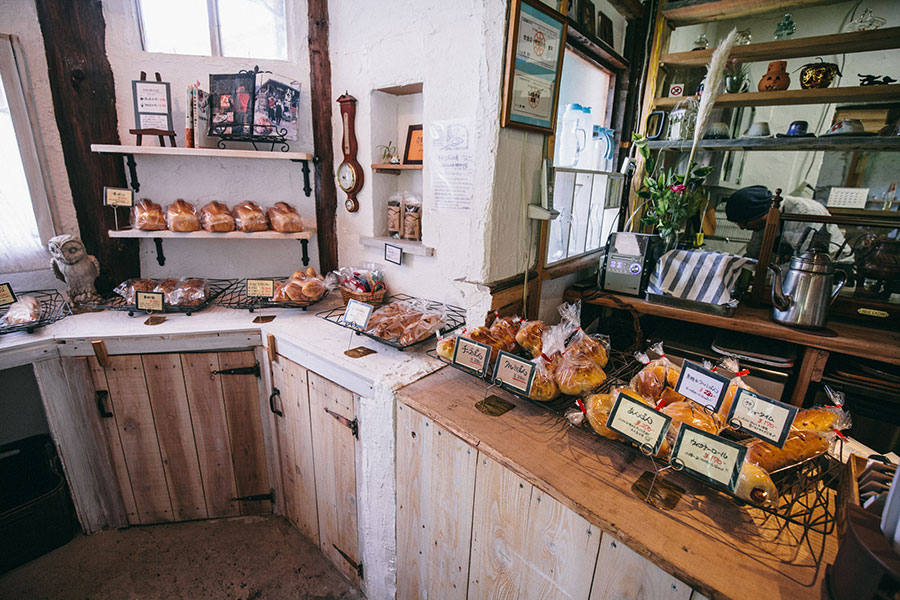
[(670, 0), (663, 5), (662, 14), (673, 25), (680, 26), (709, 21), (730, 21), (773, 12), (790, 12), (798, 8), (837, 4), (842, 1), (844, 0)]

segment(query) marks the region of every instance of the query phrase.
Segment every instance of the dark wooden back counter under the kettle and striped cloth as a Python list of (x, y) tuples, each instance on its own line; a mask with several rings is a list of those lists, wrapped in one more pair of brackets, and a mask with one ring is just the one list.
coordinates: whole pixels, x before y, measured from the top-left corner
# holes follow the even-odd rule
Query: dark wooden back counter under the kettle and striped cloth
[[(620, 308), (618, 303), (621, 302), (644, 315), (656, 315), (720, 329), (751, 333), (800, 344), (809, 348), (861, 356), (900, 365), (900, 332), (897, 331), (884, 331), (852, 323), (829, 321), (828, 329), (824, 333), (818, 334), (785, 327), (776, 323), (772, 320), (770, 308), (751, 308), (740, 305), (733, 316), (723, 317), (673, 306), (653, 304), (641, 298), (621, 296), (619, 294), (604, 294), (604, 297), (587, 298), (594, 292), (595, 290), (588, 290), (582, 293), (569, 289), (566, 290), (565, 299), (571, 302), (584, 298), (584, 302), (587, 304), (609, 308)], [(611, 299), (609, 296), (613, 296), (615, 299)]]

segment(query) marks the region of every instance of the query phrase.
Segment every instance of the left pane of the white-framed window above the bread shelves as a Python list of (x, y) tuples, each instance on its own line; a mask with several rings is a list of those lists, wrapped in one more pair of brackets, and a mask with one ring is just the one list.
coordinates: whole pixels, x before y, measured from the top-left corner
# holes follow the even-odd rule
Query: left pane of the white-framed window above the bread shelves
[(210, 56), (206, 0), (141, 0), (144, 50)]

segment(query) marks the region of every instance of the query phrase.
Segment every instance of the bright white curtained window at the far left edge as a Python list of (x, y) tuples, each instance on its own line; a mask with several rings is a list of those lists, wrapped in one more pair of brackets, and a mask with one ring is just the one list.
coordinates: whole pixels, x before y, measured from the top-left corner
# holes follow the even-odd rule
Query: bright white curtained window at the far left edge
[[(6, 42), (6, 40), (3, 40)], [(8, 43), (8, 42), (6, 42)], [(0, 77), (0, 273), (47, 268), (49, 254), (41, 243), (34, 205), (19, 152), (17, 131), (10, 114), (7, 88), (17, 73)], [(5, 81), (4, 81), (5, 80)], [(19, 123), (19, 135), (31, 135)]]

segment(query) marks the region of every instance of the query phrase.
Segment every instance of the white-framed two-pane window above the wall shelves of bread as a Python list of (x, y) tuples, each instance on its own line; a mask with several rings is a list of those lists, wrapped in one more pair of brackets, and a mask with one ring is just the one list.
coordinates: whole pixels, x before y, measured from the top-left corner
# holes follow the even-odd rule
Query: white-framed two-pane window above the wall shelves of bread
[(147, 52), (287, 60), (284, 0), (137, 0)]

